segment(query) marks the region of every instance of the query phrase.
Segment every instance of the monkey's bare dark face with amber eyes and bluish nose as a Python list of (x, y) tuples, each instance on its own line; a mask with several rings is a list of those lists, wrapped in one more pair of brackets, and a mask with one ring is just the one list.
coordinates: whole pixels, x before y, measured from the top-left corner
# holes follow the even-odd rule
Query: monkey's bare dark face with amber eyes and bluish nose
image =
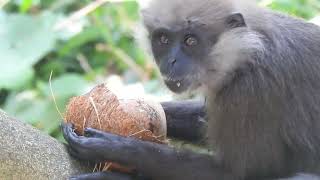
[[(213, 45), (212, 35), (201, 28), (169, 30), (159, 28), (151, 34), (152, 51), (165, 84), (181, 93), (201, 85), (202, 62)], [(202, 31), (205, 32), (205, 31)]]

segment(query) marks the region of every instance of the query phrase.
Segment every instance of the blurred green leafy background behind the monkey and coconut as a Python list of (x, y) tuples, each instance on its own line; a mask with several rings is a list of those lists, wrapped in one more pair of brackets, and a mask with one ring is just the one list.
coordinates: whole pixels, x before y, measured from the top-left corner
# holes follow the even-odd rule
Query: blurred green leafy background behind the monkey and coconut
[[(164, 96), (152, 58), (134, 36), (144, 3), (0, 0), (0, 107), (61, 140), (56, 105), (63, 112), (70, 97), (95, 84), (138, 84), (126, 92)], [(320, 13), (320, 0), (259, 3), (307, 20)]]

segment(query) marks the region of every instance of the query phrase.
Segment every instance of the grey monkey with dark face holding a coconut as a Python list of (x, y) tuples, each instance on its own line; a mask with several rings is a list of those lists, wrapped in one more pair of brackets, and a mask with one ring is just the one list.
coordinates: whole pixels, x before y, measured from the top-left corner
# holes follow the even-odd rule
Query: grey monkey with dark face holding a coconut
[(320, 179), (320, 27), (244, 0), (152, 0), (141, 14), (166, 86), (206, 97), (162, 103), (169, 135), (207, 135), (214, 153), (64, 124), (71, 155), (137, 170), (74, 179)]

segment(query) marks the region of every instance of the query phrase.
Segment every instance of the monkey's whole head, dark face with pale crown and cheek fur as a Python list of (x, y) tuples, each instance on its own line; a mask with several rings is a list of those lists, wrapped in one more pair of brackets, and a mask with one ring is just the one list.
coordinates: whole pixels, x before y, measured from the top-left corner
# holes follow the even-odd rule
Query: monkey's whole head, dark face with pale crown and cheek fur
[[(226, 8), (227, 1), (216, 2), (154, 0), (142, 11), (154, 58), (173, 92), (215, 86), (236, 64), (224, 58), (225, 52), (236, 55), (234, 46), (228, 47), (232, 43), (225, 43), (221, 36), (246, 24), (242, 14)], [(230, 37), (225, 39), (229, 42), (238, 36)]]

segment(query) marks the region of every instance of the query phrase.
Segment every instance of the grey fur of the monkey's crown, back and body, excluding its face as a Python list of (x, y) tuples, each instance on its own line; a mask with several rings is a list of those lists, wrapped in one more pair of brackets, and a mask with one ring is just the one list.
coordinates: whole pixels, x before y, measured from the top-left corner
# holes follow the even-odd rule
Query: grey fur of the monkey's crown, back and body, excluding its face
[[(248, 27), (225, 31), (233, 12)], [(318, 26), (239, 0), (156, 0), (143, 15), (149, 32), (189, 20), (222, 31), (199, 80), (212, 145), (233, 179), (320, 179)], [(300, 172), (314, 176), (289, 178)]]

